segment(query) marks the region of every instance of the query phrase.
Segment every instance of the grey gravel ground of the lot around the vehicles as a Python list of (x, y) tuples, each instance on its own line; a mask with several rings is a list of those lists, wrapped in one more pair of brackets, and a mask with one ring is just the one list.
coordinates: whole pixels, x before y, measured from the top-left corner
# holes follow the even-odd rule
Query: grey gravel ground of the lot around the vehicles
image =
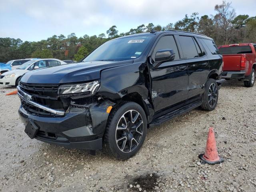
[[(0, 191), (256, 191), (256, 86), (222, 80), (216, 109), (200, 109), (148, 130), (126, 161), (31, 140), (18, 116), (15, 88), (0, 87)], [(203, 164), (214, 127), (222, 164)]]

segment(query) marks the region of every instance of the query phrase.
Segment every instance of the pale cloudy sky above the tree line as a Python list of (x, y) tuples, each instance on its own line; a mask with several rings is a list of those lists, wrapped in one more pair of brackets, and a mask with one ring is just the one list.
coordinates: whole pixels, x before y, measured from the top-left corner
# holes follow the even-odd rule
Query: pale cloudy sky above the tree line
[[(256, 0), (230, 0), (236, 15), (256, 16)], [(222, 0), (0, 0), (0, 38), (39, 41), (53, 35), (118, 33), (141, 24), (166, 26), (198, 12), (216, 14)]]

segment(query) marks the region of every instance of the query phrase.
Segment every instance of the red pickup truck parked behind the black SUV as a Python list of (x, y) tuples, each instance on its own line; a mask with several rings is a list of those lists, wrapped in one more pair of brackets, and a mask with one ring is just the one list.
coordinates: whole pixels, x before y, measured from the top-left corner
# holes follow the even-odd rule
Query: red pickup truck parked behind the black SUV
[(243, 80), (244, 86), (252, 87), (255, 82), (256, 44), (222, 45), (218, 49), (224, 62), (222, 78)]

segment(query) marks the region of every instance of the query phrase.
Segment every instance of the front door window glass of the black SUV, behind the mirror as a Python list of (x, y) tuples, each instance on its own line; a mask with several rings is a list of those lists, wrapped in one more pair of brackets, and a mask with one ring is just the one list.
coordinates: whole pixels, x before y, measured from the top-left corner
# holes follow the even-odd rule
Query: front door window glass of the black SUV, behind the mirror
[(160, 49), (172, 49), (175, 53), (174, 60), (180, 58), (176, 42), (172, 35), (163, 36), (160, 38), (160, 40), (156, 44), (156, 47), (154, 48), (152, 56), (156, 56), (156, 52)]

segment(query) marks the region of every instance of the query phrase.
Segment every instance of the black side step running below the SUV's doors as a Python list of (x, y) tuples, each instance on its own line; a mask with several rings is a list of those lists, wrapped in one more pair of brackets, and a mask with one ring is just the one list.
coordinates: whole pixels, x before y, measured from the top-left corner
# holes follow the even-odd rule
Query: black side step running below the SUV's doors
[(176, 116), (179, 116), (179, 115), (184, 114), (184, 113), (186, 113), (186, 112), (188, 112), (188, 111), (190, 111), (194, 108), (197, 108), (197, 107), (201, 106), (201, 104), (202, 104), (202, 101), (195, 101), (195, 102), (192, 102), (192, 103), (190, 103), (190, 104), (188, 104), (188, 105), (186, 105), (182, 108), (179, 108), (175, 111), (167, 113), (167, 114), (153, 120), (149, 124), (149, 127), (151, 128), (151, 127), (154, 127), (154, 126), (158, 126), (158, 125), (160, 125), (160, 124), (162, 124), (162, 123), (164, 123), (168, 120), (171, 120), (172, 118), (174, 118)]

